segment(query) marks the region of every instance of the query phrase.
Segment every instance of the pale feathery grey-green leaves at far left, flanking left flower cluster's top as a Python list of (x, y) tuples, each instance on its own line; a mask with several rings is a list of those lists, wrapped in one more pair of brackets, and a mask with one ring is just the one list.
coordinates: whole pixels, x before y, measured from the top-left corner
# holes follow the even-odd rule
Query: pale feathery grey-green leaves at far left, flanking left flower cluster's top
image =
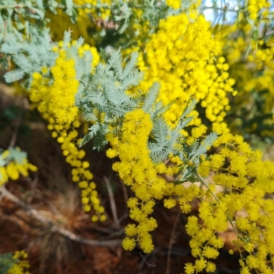
[[(5, 81), (12, 83), (26, 76), (24, 85), (29, 88), (29, 84), (32, 82), (32, 73), (41, 71), (42, 67), (51, 68), (58, 57), (58, 53), (52, 51), (55, 43), (51, 41), (49, 29), (39, 32), (38, 29), (29, 27), (27, 38), (16, 31), (9, 34), (7, 38), (0, 51), (12, 57), (16, 69), (5, 73)], [(65, 32), (63, 48), (66, 51), (66, 58), (75, 60), (76, 78), (82, 79), (82, 77), (90, 75), (92, 54), (90, 51), (84, 51), (84, 56), (79, 57), (78, 49), (84, 44), (83, 38), (79, 38), (75, 45), (69, 47), (70, 42), (71, 33)], [(49, 76), (49, 72), (47, 76)]]

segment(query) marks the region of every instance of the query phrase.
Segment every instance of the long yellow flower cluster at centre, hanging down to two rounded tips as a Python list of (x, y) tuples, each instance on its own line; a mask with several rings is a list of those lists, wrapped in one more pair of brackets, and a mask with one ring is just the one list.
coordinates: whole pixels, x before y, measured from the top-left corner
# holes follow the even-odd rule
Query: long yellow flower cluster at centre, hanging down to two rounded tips
[(151, 128), (149, 114), (140, 109), (128, 112), (121, 128), (121, 140), (114, 134), (108, 134), (112, 149), (106, 152), (109, 158), (119, 156), (121, 162), (115, 162), (112, 169), (119, 173), (123, 182), (132, 188), (137, 197), (129, 199), (128, 206), (129, 216), (139, 224), (127, 225), (127, 237), (123, 240), (123, 247), (127, 250), (134, 249), (136, 240), (133, 237), (138, 234), (137, 240), (146, 253), (154, 248), (149, 232), (157, 227), (155, 219), (148, 215), (153, 212), (153, 199), (161, 199), (166, 187), (165, 180), (158, 177), (156, 166), (149, 157), (147, 139)]

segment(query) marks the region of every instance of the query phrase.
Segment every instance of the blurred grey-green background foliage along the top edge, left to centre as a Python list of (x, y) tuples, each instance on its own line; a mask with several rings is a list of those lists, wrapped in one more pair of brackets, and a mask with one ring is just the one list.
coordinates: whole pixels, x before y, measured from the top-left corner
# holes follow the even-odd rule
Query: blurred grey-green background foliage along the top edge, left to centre
[[(134, 16), (134, 9), (142, 10), (141, 22), (149, 22), (154, 27), (158, 25), (161, 18), (165, 17), (168, 9), (163, 0), (145, 0), (140, 3), (124, 0), (101, 3), (98, 0), (95, 5), (90, 3), (76, 5), (73, 0), (0, 0), (0, 44), (14, 30), (25, 34), (29, 22), (35, 22), (36, 29), (41, 31), (45, 29), (50, 20), (45, 17), (48, 11), (57, 14), (57, 10), (61, 9), (75, 23), (79, 10), (84, 8), (95, 9), (99, 17), (102, 16), (101, 8), (111, 10), (110, 18), (105, 18), (104, 22), (115, 23), (115, 29), (119, 34), (125, 32), (136, 21), (137, 23), (140, 21), (140, 17)], [(95, 33), (95, 38), (105, 36), (107, 28), (102, 26), (101, 32)]]

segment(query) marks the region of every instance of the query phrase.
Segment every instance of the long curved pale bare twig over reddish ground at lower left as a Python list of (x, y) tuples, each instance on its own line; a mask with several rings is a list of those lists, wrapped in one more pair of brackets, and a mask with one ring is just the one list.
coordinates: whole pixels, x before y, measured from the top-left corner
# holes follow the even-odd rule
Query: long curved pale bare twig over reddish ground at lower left
[(58, 225), (54, 225), (54, 223), (51, 220), (41, 216), (37, 210), (34, 210), (34, 208), (32, 208), (31, 206), (21, 201), (21, 199), (18, 199), (18, 197), (14, 196), (10, 191), (8, 191), (5, 188), (5, 186), (2, 186), (0, 188), (0, 192), (2, 193), (2, 195), (5, 195), (5, 197), (7, 197), (8, 199), (16, 203), (18, 206), (21, 206), (21, 208), (23, 208), (23, 210), (25, 210), (27, 214), (31, 214), (32, 216), (34, 216), (35, 219), (37, 219), (41, 223), (45, 225), (49, 225), (51, 227), (51, 232), (57, 232), (61, 234), (62, 236), (69, 238), (70, 240), (79, 242), (84, 245), (92, 245), (97, 247), (110, 247), (110, 246), (121, 245), (121, 240), (101, 241), (101, 240), (90, 240), (90, 239), (82, 238), (74, 234), (73, 232), (70, 232), (68, 229), (59, 227)]

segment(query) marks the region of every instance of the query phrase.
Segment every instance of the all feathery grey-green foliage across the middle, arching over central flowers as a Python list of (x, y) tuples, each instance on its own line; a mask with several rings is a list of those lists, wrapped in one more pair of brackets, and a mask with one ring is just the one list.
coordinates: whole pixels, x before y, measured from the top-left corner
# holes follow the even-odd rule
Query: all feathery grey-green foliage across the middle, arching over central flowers
[[(202, 142), (197, 140), (189, 146), (180, 134), (193, 119), (190, 114), (195, 108), (195, 99), (188, 101), (177, 125), (171, 128), (163, 116), (170, 105), (164, 106), (158, 101), (160, 84), (155, 82), (147, 92), (138, 90), (134, 95), (130, 95), (127, 90), (137, 86), (142, 78), (142, 73), (135, 67), (136, 60), (137, 54), (133, 53), (123, 66), (121, 52), (116, 51), (107, 63), (97, 66), (93, 76), (82, 82), (82, 92), (77, 99), (77, 105), (82, 110), (84, 119), (92, 121), (93, 125), (81, 145), (93, 138), (94, 149), (102, 149), (107, 144), (105, 135), (108, 132), (114, 132), (116, 136), (121, 135), (123, 116), (136, 108), (142, 108), (150, 114), (153, 122), (147, 144), (153, 162), (162, 162), (168, 159), (170, 154), (178, 155), (184, 164), (177, 174), (177, 179), (191, 179), (190, 176), (195, 174), (194, 171), (199, 166), (201, 155), (206, 154), (217, 136), (212, 133)], [(103, 116), (99, 113), (103, 113)], [(186, 164), (189, 161), (192, 166)]]

